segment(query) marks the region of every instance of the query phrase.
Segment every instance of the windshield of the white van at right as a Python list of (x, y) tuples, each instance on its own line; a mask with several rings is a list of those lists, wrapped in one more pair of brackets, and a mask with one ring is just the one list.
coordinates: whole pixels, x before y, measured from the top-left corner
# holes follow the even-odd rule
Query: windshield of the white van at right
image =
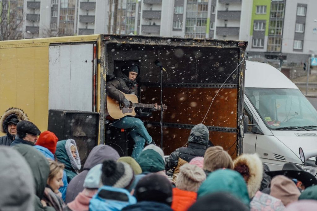
[(245, 88), (245, 94), (271, 130), (317, 127), (317, 111), (299, 89)]

